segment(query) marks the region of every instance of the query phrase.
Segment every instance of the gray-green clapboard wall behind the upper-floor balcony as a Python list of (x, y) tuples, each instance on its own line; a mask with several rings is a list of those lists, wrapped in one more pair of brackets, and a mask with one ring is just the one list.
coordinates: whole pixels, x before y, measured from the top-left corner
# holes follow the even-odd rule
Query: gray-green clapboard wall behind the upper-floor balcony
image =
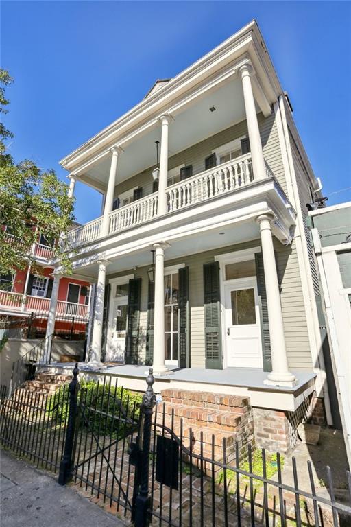
[[(285, 190), (285, 178), (282, 167), (282, 159), (279, 148), (278, 132), (276, 128), (276, 122), (274, 114), (270, 117), (263, 116), (262, 113), (258, 115), (258, 124), (260, 126), (261, 141), (263, 145), (263, 154), (267, 161), (267, 164), (271, 168), (278, 179), (280, 185)], [(169, 127), (169, 134), (172, 133), (172, 127)], [(226, 130), (222, 130), (218, 134), (215, 134), (208, 139), (204, 139), (200, 143), (193, 145), (174, 156), (171, 156), (168, 161), (169, 170), (178, 167), (179, 165), (193, 165), (193, 174), (199, 174), (204, 172), (205, 169), (205, 158), (209, 156), (215, 148), (221, 145), (229, 143), (238, 137), (247, 135), (247, 124), (246, 121), (230, 126)], [(119, 183), (114, 191), (114, 196), (133, 189), (134, 187), (143, 187), (143, 196), (152, 194), (152, 170), (155, 166), (145, 169), (143, 172), (136, 174), (132, 178)]]

